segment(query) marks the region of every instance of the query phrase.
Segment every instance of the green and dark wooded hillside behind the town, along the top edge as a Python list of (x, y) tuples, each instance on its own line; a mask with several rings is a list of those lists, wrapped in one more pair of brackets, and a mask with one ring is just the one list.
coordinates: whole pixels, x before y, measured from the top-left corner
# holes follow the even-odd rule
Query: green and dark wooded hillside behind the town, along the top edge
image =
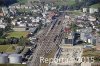
[[(14, 3), (27, 3), (27, 1), (34, 1), (34, 0), (0, 0), (0, 6), (9, 6)], [(35, 0), (37, 1), (37, 0)], [(99, 7), (100, 0), (40, 0), (41, 2), (50, 3), (53, 2), (55, 5), (58, 6), (67, 6), (70, 9), (80, 9), (82, 7)], [(96, 4), (98, 3), (98, 4)]]

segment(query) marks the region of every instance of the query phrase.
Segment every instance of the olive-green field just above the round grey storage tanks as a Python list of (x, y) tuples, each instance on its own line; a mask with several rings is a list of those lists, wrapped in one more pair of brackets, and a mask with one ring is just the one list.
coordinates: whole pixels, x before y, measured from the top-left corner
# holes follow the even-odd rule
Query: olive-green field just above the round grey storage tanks
[(0, 52), (14, 52), (13, 46), (17, 45), (0, 45)]

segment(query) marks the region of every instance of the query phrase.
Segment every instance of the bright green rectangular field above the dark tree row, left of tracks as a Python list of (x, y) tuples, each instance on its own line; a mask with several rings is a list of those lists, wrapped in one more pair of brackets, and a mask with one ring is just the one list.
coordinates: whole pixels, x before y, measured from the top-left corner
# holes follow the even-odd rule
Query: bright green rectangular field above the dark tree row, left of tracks
[(21, 32), (10, 32), (8, 33), (8, 36), (7, 38), (10, 38), (10, 37), (16, 37), (16, 38), (20, 38), (20, 37), (26, 37), (28, 35), (28, 32), (24, 32), (24, 31), (21, 31)]

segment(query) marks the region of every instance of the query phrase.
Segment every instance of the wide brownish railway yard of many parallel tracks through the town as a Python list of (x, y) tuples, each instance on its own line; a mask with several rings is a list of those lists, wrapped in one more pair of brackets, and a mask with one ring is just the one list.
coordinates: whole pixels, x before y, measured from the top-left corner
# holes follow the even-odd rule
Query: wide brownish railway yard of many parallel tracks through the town
[[(58, 18), (61, 19), (61, 18)], [(59, 21), (59, 20), (58, 20)], [(33, 53), (33, 59), (29, 63), (28, 66), (39, 66), (40, 65), (40, 57), (44, 57), (46, 54), (50, 53), (53, 48), (57, 49), (57, 44), (61, 43), (62, 37), (62, 23), (58, 25), (57, 22), (53, 29), (51, 29), (52, 24), (45, 29), (45, 31), (39, 36), (39, 40), (37, 42), (37, 49), (35, 53)], [(55, 37), (58, 36), (56, 39)], [(55, 39), (55, 41), (54, 41)]]

